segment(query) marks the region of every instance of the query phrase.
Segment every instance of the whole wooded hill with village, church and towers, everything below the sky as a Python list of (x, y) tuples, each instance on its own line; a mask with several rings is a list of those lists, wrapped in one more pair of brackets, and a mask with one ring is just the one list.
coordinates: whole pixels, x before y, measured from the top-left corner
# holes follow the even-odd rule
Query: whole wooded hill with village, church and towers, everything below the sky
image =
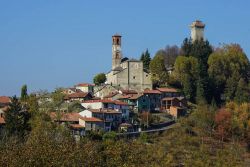
[(93, 83), (0, 96), (0, 166), (249, 166), (248, 57), (190, 29), (139, 60), (115, 34)]

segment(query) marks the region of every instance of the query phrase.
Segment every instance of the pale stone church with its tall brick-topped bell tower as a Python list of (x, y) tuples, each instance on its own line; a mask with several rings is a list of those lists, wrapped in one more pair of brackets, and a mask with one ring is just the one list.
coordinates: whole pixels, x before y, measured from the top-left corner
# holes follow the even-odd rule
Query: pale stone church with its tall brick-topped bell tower
[(125, 90), (143, 91), (152, 89), (151, 75), (143, 62), (136, 59), (123, 59), (121, 35), (112, 36), (112, 69), (106, 74), (107, 84)]

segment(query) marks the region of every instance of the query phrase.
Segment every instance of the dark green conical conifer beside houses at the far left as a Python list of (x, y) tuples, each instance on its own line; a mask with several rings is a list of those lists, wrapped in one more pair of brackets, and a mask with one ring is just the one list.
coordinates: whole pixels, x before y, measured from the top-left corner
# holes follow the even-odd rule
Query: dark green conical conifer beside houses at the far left
[(30, 131), (30, 114), (22, 108), (16, 96), (12, 97), (10, 107), (5, 113), (5, 128), (8, 135), (24, 137)]

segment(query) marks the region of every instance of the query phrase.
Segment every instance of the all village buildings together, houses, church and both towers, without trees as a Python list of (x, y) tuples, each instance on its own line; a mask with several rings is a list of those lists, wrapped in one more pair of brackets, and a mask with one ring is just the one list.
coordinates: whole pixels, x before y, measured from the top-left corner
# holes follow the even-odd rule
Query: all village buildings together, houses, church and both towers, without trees
[[(191, 38), (203, 40), (205, 25), (195, 21), (191, 25)], [(90, 131), (136, 132), (151, 128), (152, 124), (174, 123), (185, 116), (187, 99), (182, 91), (153, 85), (152, 74), (142, 60), (128, 59), (122, 54), (122, 37), (112, 36), (112, 67), (102, 84), (79, 83), (60, 89), (67, 107), (80, 104), (80, 110), (70, 111), (61, 107), (49, 115), (60, 124), (66, 124), (74, 135), (85, 135)], [(167, 68), (167, 67), (166, 67)], [(167, 68), (171, 74), (173, 68)], [(41, 101), (53, 101), (49, 93), (36, 94)], [(1, 126), (4, 126), (4, 111), (11, 102), (9, 97), (0, 97), (2, 106)]]

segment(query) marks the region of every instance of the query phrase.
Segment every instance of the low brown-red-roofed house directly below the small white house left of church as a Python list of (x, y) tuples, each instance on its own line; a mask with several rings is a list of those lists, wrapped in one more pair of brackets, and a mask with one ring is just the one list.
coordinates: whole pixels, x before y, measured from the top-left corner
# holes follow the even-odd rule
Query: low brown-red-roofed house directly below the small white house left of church
[(92, 95), (91, 93), (88, 92), (76, 92), (76, 93), (72, 93), (69, 95), (66, 95), (64, 100), (66, 102), (72, 102), (72, 101), (85, 101), (85, 100), (90, 100), (92, 99)]

